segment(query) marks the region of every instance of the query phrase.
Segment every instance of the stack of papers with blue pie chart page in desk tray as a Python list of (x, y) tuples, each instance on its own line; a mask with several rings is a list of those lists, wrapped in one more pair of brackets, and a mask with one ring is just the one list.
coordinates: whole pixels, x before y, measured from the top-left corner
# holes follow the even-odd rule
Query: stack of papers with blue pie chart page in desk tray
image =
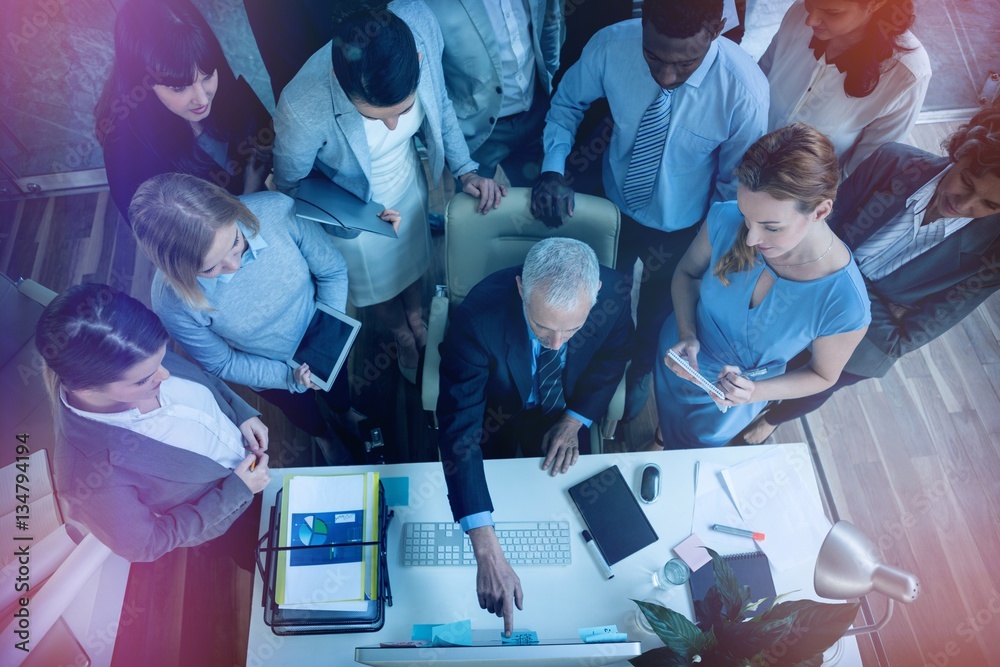
[(377, 472), (286, 477), (278, 540), (297, 548), (278, 552), (278, 606), (364, 611), (378, 590), (378, 507)]

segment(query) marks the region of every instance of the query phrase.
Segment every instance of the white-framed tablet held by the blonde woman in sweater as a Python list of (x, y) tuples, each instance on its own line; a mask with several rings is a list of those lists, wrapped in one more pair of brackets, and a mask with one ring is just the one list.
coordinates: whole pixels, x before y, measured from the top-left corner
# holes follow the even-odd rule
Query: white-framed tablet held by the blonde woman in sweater
[(323, 391), (330, 391), (337, 373), (347, 361), (359, 329), (361, 322), (353, 317), (317, 303), (309, 326), (288, 365), (298, 368), (309, 364), (313, 383)]

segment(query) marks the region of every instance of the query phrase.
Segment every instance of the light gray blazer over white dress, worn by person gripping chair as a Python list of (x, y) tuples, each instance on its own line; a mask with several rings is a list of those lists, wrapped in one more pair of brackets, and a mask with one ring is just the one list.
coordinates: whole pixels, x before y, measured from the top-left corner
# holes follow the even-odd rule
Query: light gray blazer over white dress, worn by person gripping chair
[[(455, 176), (479, 165), (469, 157), (462, 129), (444, 85), (441, 29), (423, 0), (389, 5), (413, 32), (421, 53), (417, 97), (424, 109), (421, 126), (435, 185), (445, 159)], [(314, 53), (289, 82), (274, 115), (274, 183), (294, 194), (313, 166), (342, 188), (370, 201), (371, 155), (364, 121), (333, 76), (330, 44)]]

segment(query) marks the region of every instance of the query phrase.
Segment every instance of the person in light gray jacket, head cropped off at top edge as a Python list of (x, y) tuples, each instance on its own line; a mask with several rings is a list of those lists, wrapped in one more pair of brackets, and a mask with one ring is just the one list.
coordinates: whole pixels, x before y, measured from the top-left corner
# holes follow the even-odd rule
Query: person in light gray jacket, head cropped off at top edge
[(444, 37), (441, 66), (458, 123), (493, 178), (515, 186), (538, 177), (542, 129), (563, 42), (560, 0), (425, 0)]

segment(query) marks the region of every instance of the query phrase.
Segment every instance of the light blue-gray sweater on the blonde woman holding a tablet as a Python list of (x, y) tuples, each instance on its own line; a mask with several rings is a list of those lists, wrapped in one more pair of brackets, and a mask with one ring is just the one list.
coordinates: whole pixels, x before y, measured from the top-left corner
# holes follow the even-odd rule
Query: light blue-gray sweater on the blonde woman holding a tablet
[[(189, 306), (160, 271), (153, 310), (170, 335), (212, 375), (252, 389), (302, 392), (286, 363), (319, 302), (343, 311), (347, 264), (319, 223), (295, 217), (277, 192), (240, 199), (260, 221), (243, 265), (228, 282), (199, 279), (212, 310)], [(263, 243), (261, 243), (263, 241)]]

